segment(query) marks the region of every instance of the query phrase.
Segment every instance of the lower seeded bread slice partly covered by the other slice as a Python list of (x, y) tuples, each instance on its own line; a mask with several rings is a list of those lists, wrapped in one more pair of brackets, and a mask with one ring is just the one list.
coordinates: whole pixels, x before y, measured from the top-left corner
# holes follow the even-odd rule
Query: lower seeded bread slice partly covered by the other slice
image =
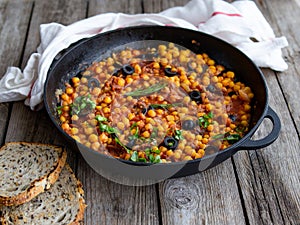
[(0, 206), (2, 224), (80, 224), (85, 202), (81, 183), (69, 165), (62, 169), (52, 187), (30, 202), (18, 206)]

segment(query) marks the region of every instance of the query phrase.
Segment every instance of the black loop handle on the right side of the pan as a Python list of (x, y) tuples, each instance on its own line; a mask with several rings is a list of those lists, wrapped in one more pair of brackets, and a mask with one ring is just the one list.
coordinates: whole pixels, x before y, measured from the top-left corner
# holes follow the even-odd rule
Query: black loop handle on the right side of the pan
[(264, 148), (272, 144), (278, 138), (281, 129), (281, 122), (276, 112), (274, 112), (271, 107), (268, 107), (268, 111), (264, 118), (270, 119), (273, 124), (273, 129), (270, 134), (259, 140), (251, 140), (251, 137), (249, 137), (245, 142), (241, 144), (241, 146), (239, 146), (239, 149), (253, 150)]

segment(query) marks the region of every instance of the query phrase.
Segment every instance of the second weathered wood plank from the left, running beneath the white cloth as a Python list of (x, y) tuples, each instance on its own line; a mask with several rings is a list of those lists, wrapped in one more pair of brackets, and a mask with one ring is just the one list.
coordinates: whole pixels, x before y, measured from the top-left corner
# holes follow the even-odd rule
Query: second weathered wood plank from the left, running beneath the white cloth
[[(86, 3), (84, 0), (66, 2), (36, 1), (31, 15), (32, 20), (30, 21), (30, 29), (28, 30), (22, 67), (26, 64), (29, 55), (36, 51), (40, 43), (40, 24), (53, 21), (63, 24), (75, 22), (85, 17), (85, 8)], [(30, 12), (28, 15), (30, 15)], [(52, 125), (45, 110), (32, 112), (28, 107), (24, 106), (23, 102), (13, 104), (5, 141), (65, 144), (65, 140), (62, 139), (61, 135), (59, 135), (56, 128)], [(68, 162), (75, 168), (75, 155), (71, 154), (72, 151), (70, 149), (68, 149), (68, 152)]]

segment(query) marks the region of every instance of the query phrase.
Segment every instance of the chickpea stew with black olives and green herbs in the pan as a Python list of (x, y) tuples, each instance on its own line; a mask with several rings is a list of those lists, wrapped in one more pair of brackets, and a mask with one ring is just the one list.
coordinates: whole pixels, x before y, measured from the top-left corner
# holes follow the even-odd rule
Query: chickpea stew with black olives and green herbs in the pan
[(107, 53), (57, 90), (68, 135), (116, 158), (168, 163), (222, 151), (248, 132), (254, 94), (233, 71), (174, 43), (143, 42)]

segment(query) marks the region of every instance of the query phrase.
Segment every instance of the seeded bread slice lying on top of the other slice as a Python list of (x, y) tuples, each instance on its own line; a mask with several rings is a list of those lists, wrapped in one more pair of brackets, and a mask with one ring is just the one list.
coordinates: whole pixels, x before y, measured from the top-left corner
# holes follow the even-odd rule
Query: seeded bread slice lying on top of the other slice
[(58, 146), (11, 142), (0, 149), (0, 205), (30, 201), (55, 183), (67, 152)]

